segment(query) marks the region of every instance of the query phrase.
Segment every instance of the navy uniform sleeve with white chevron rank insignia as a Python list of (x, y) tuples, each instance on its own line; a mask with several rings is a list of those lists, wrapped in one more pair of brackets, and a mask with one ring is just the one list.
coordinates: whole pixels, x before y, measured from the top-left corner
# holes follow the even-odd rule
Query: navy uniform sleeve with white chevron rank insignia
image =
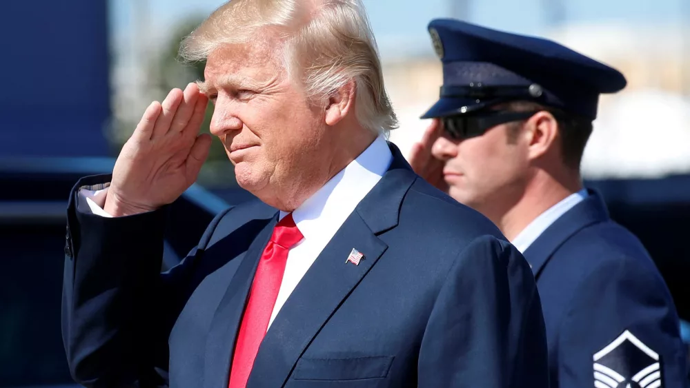
[(688, 387), (687, 348), (653, 263), (602, 261), (575, 292), (558, 334), (560, 388)]

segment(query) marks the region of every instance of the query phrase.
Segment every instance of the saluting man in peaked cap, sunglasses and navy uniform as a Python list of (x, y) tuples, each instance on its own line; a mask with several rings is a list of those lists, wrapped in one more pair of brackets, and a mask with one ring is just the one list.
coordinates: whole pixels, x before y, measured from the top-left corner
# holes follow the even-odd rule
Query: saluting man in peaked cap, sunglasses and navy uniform
[(685, 387), (664, 280), (580, 178), (598, 97), (624, 88), (624, 76), (545, 39), (452, 19), (429, 32), (444, 84), (411, 164), (524, 252), (552, 387)]

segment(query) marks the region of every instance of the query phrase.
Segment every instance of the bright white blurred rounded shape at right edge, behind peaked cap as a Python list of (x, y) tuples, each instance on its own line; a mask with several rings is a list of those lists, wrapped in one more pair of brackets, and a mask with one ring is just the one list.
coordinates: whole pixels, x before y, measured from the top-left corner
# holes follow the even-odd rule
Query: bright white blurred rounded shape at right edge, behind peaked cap
[(690, 173), (690, 100), (662, 90), (620, 94), (600, 112), (584, 152), (587, 178)]

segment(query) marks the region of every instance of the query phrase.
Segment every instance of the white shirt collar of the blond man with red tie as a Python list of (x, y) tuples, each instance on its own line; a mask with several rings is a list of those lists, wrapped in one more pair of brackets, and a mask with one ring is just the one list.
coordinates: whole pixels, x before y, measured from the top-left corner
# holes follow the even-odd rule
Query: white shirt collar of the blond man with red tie
[[(357, 159), (338, 172), (293, 212), (304, 239), (333, 237), (359, 201), (380, 181), (393, 160), (386, 139), (378, 136)], [(280, 218), (286, 216), (280, 212)]]

